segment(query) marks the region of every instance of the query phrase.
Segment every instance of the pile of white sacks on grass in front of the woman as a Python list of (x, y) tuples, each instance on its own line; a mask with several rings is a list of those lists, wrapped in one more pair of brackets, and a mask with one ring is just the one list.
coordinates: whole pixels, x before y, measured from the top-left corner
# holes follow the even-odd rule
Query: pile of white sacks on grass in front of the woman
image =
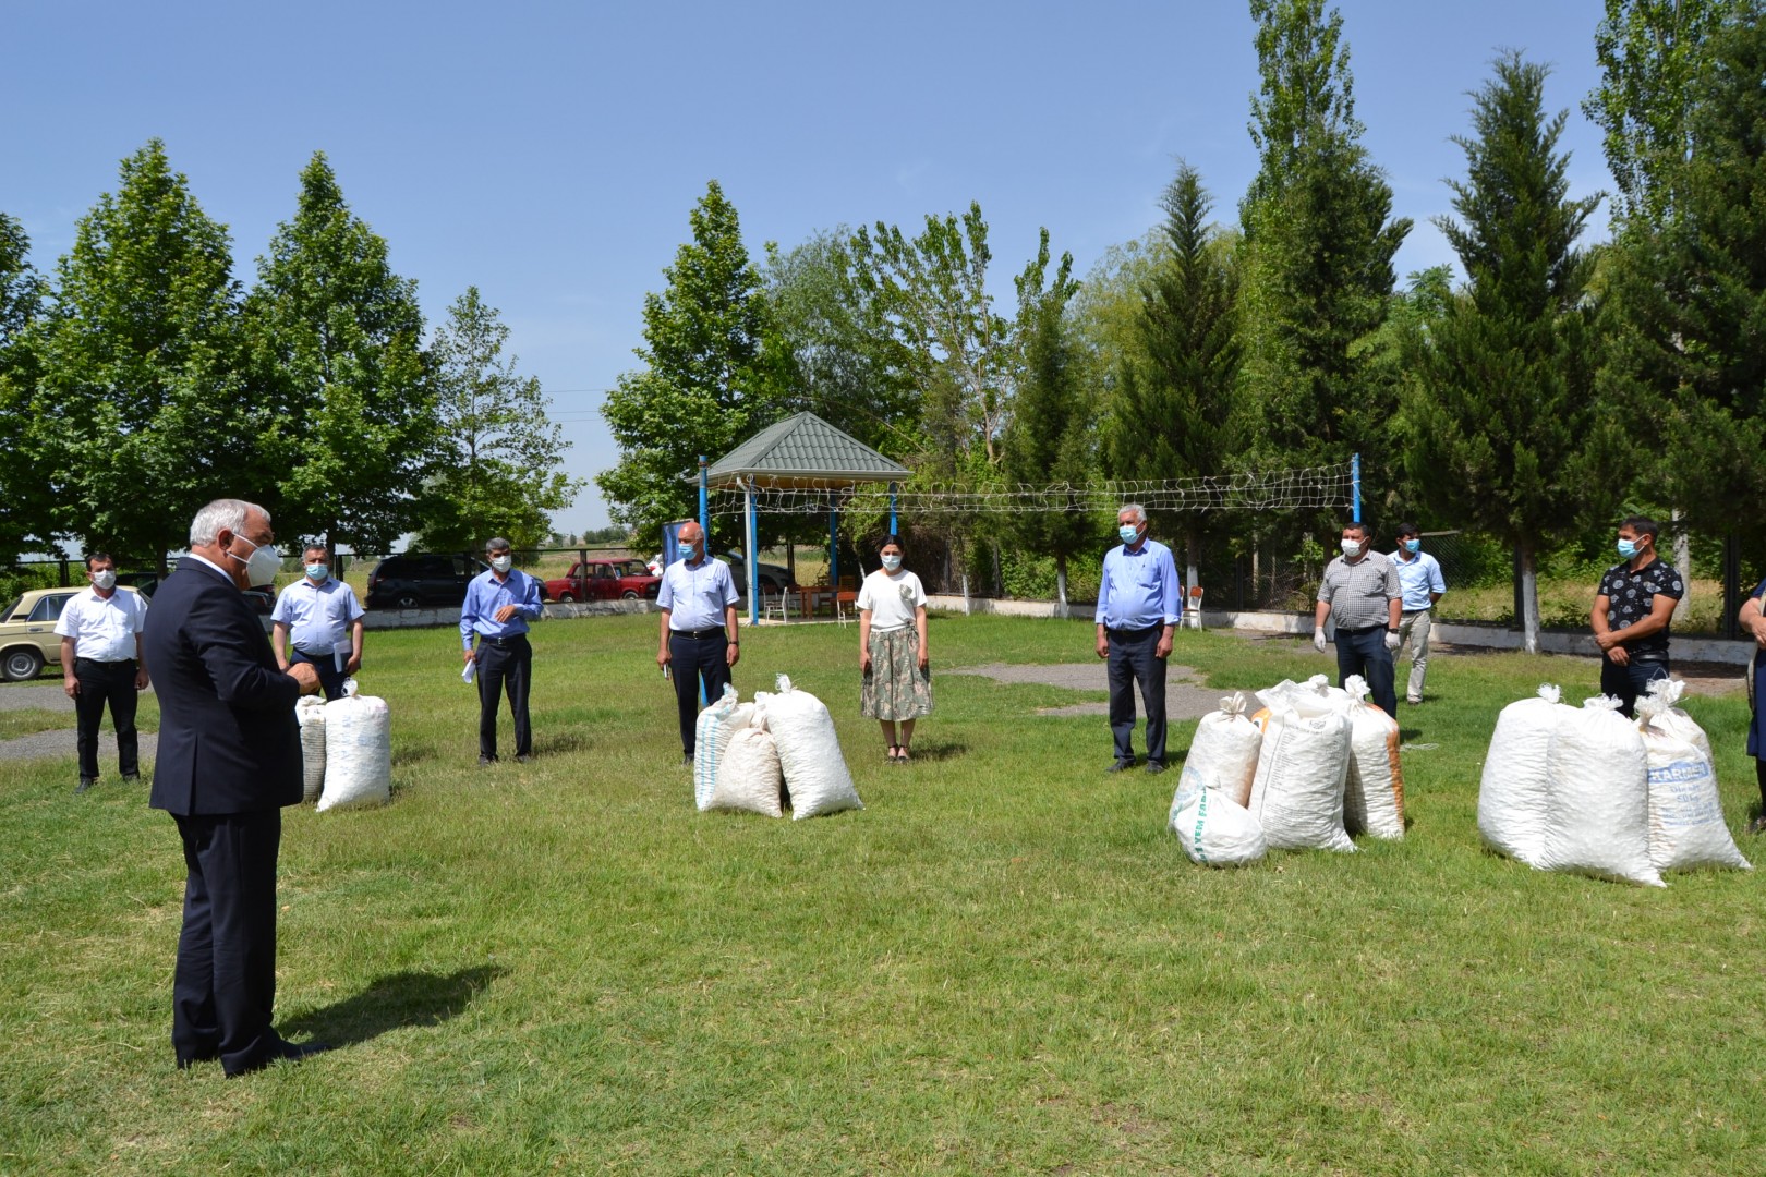
[(743, 810), (793, 819), (862, 810), (846, 771), (834, 716), (809, 692), (779, 676), (777, 693), (740, 702), (735, 686), (699, 713), (692, 794), (699, 810)]

